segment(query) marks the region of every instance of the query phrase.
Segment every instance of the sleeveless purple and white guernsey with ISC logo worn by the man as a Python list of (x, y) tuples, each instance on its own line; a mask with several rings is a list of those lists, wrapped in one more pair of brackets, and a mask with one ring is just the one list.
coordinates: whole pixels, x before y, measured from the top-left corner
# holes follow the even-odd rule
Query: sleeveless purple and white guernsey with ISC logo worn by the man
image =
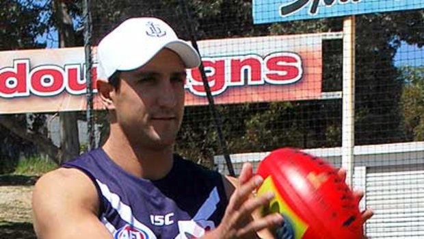
[(64, 163), (83, 171), (97, 188), (99, 220), (116, 239), (188, 239), (220, 224), (228, 199), (222, 177), (174, 156), (163, 179), (134, 177), (96, 149)]

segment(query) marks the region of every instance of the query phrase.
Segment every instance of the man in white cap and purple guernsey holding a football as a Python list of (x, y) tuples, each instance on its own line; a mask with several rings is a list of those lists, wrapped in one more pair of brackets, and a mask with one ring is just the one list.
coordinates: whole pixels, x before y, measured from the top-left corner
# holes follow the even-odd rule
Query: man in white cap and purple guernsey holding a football
[(174, 155), (185, 69), (200, 56), (157, 18), (132, 18), (98, 45), (97, 88), (110, 112), (101, 149), (40, 178), (33, 194), (40, 238), (256, 238), (282, 224), (252, 220), (274, 194), (245, 164), (237, 182)]

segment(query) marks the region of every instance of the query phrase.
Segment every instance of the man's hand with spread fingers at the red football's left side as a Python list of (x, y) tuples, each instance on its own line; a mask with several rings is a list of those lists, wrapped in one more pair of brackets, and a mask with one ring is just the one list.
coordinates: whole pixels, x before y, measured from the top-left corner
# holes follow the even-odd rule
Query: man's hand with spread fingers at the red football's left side
[(204, 238), (235, 239), (257, 238), (256, 232), (266, 228), (276, 228), (283, 219), (280, 214), (269, 214), (262, 218), (252, 220), (254, 210), (266, 205), (274, 198), (274, 193), (269, 192), (259, 197), (252, 197), (252, 192), (262, 184), (260, 176), (252, 173), (252, 164), (243, 164), (238, 180), (238, 185), (226, 208), (224, 218), (220, 225)]

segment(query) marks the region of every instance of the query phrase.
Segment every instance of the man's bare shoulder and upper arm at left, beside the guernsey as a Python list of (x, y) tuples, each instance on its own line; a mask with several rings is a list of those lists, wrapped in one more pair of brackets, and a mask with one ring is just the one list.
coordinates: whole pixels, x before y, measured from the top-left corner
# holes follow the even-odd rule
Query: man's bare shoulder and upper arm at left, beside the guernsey
[(98, 194), (87, 175), (59, 168), (41, 177), (34, 188), (34, 229), (40, 239), (107, 238), (98, 220)]

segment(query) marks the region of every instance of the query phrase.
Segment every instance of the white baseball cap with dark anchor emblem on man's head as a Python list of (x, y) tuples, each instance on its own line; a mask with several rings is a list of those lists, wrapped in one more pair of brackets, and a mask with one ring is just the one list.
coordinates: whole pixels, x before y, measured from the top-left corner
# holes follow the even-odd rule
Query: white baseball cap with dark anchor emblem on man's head
[(130, 18), (107, 34), (97, 47), (97, 78), (107, 81), (116, 71), (146, 64), (164, 47), (177, 53), (186, 68), (200, 64), (200, 55), (158, 18)]

